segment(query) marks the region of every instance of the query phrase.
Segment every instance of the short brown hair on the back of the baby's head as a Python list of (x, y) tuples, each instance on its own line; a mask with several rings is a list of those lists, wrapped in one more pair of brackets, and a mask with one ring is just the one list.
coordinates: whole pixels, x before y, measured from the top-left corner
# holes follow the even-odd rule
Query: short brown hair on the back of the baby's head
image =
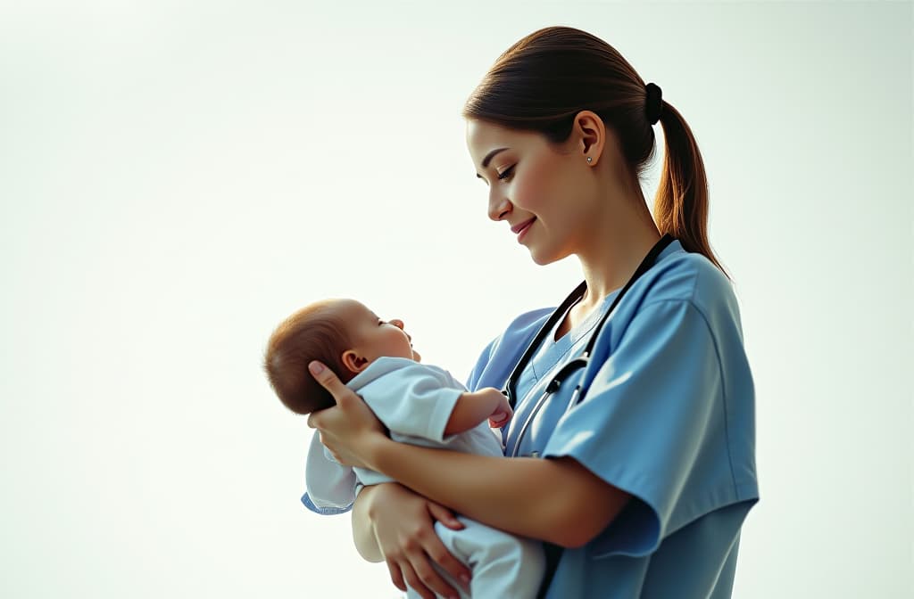
[(263, 369), (282, 404), (295, 414), (311, 414), (335, 405), (334, 397), (308, 371), (313, 360), (324, 363), (343, 383), (355, 373), (343, 363), (352, 346), (345, 321), (329, 310), (334, 300), (320, 301), (282, 321), (267, 342)]

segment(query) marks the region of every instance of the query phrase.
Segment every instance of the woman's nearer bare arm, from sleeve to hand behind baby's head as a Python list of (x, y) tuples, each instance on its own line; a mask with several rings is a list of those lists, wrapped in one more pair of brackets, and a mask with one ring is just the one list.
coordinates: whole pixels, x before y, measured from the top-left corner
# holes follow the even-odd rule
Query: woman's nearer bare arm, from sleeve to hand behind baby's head
[(337, 459), (383, 472), (473, 520), (576, 547), (609, 525), (630, 498), (569, 457), (505, 459), (391, 441), (334, 373), (312, 372), (337, 405), (309, 416), (308, 425), (321, 430)]

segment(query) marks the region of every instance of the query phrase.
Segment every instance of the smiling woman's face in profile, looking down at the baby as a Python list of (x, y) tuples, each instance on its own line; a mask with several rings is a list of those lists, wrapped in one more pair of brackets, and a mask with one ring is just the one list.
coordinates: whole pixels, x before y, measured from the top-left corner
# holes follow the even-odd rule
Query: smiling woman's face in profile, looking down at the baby
[(466, 139), (489, 188), (489, 217), (504, 220), (537, 264), (576, 253), (594, 194), (587, 157), (574, 141), (552, 144), (536, 132), (475, 120), (467, 121)]

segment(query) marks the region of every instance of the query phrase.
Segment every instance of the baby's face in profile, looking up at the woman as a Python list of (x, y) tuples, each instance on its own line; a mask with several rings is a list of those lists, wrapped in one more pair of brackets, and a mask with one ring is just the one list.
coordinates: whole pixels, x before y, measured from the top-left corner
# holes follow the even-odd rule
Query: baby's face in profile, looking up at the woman
[(412, 349), (412, 338), (403, 331), (403, 321), (383, 321), (356, 300), (341, 300), (338, 309), (343, 310), (356, 344), (352, 349), (368, 362), (381, 356), (421, 361), (419, 352)]

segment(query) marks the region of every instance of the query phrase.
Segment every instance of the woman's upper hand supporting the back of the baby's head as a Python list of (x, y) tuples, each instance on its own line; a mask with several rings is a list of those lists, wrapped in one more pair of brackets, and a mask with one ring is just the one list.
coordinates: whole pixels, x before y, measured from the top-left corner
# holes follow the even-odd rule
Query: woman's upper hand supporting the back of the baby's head
[(387, 440), (384, 426), (362, 398), (324, 364), (313, 362), (308, 368), (336, 400), (335, 407), (308, 416), (308, 426), (320, 431), (321, 443), (341, 464), (377, 469), (370, 464), (371, 447)]

